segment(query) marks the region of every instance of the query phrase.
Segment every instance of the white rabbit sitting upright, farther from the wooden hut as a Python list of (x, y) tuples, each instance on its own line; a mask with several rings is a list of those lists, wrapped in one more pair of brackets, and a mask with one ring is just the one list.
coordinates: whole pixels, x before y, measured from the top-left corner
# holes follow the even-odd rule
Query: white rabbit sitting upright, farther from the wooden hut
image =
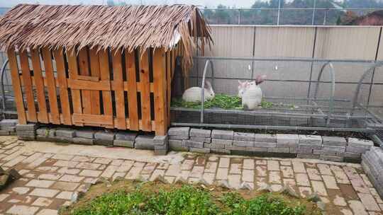
[(249, 83), (248, 88), (242, 96), (242, 107), (248, 110), (255, 110), (258, 105), (262, 102), (262, 89), (260, 88), (260, 83), (266, 79), (266, 76), (257, 76), (255, 81)]

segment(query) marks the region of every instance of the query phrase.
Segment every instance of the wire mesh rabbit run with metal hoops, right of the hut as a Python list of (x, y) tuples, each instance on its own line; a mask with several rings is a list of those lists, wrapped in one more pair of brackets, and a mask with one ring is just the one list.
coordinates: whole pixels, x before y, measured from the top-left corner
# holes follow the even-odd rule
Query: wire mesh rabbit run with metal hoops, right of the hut
[[(356, 60), (194, 57), (184, 82), (210, 81), (215, 97), (202, 104), (172, 98), (172, 125), (371, 132), (383, 113), (380, 66)], [(262, 103), (245, 110), (238, 81), (260, 75), (266, 76)]]

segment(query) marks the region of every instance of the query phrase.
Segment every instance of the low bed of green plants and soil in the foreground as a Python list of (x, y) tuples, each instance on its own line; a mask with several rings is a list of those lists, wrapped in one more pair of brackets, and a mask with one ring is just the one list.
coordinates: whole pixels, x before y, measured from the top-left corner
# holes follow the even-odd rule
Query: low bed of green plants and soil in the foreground
[[(311, 202), (289, 199), (282, 194), (247, 194), (204, 189), (191, 185), (145, 184), (95, 188), (77, 204), (60, 211), (65, 215), (306, 215), (320, 214)], [(97, 185), (96, 185), (97, 186)], [(291, 197), (290, 197), (291, 198)]]

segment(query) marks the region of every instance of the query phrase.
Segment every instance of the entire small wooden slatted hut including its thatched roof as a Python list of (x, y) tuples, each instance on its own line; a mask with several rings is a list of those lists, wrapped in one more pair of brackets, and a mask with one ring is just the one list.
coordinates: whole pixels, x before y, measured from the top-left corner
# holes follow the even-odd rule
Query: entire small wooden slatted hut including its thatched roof
[(21, 124), (164, 135), (175, 58), (186, 73), (210, 43), (196, 6), (20, 4), (0, 19)]

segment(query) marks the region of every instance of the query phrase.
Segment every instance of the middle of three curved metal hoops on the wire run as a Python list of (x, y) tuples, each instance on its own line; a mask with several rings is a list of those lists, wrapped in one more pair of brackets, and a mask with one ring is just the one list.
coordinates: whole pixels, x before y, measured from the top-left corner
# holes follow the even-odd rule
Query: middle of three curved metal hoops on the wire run
[(328, 115), (327, 115), (327, 124), (330, 124), (331, 115), (333, 115), (333, 110), (334, 110), (334, 97), (335, 97), (335, 69), (331, 62), (326, 62), (326, 64), (323, 64), (321, 71), (318, 74), (318, 79), (316, 80), (316, 91), (314, 94), (314, 100), (316, 100), (318, 97), (319, 82), (322, 79), (322, 74), (326, 66), (330, 67), (328, 72), (331, 77), (331, 95), (330, 95), (330, 98), (328, 99)]

